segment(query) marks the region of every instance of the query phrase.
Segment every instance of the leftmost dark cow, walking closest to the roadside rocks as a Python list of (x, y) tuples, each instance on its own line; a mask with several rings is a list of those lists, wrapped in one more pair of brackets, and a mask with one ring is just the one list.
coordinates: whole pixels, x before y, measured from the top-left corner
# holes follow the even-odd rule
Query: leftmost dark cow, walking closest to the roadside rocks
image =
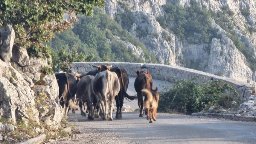
[(55, 77), (58, 80), (59, 86), (59, 103), (62, 108), (65, 108), (65, 114), (67, 117), (69, 106), (72, 109), (78, 109), (78, 106), (74, 103), (77, 81), (74, 76), (69, 73), (57, 73), (55, 74)]

